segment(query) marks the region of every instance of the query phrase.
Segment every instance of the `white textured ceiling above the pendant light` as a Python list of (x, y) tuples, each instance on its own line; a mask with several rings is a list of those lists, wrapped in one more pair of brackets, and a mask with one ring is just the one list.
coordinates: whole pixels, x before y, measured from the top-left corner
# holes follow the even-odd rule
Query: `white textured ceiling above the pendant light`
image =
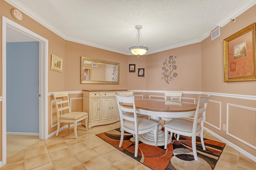
[(256, 0), (5, 0), (68, 41), (132, 55), (136, 25), (152, 54), (198, 43)]

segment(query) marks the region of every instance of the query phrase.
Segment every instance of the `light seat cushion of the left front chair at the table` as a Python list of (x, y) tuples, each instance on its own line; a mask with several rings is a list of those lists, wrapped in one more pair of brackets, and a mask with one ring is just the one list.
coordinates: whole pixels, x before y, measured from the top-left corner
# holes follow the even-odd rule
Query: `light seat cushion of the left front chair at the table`
[[(158, 125), (155, 121), (149, 119), (143, 119), (138, 117), (138, 130), (144, 131)], [(133, 121), (124, 120), (124, 127), (135, 131), (135, 125)]]

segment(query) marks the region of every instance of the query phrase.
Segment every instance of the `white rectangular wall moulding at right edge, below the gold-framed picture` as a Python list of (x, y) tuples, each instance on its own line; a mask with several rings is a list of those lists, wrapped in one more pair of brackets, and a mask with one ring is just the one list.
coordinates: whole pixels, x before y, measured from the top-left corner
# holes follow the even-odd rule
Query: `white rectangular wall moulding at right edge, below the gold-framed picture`
[(248, 110), (252, 110), (252, 111), (256, 111), (256, 108), (251, 108), (251, 107), (245, 107), (245, 106), (239, 106), (239, 105), (235, 105), (235, 104), (229, 104), (227, 103), (226, 104), (226, 134), (233, 137), (234, 139), (244, 143), (245, 145), (248, 145), (249, 147), (252, 147), (253, 149), (256, 149), (256, 145), (252, 145), (246, 141), (244, 141), (243, 139), (240, 139), (239, 137), (236, 137), (235, 135), (232, 135), (231, 133), (228, 133), (228, 115), (229, 115), (229, 106), (233, 106), (233, 107), (238, 107), (238, 108), (241, 108), (241, 109), (248, 109)]

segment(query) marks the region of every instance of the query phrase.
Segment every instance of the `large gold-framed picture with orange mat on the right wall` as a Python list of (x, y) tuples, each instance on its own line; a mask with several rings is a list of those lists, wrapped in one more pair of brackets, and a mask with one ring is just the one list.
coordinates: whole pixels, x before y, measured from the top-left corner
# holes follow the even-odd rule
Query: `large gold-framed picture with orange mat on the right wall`
[(245, 27), (223, 40), (224, 81), (256, 81), (255, 27)]

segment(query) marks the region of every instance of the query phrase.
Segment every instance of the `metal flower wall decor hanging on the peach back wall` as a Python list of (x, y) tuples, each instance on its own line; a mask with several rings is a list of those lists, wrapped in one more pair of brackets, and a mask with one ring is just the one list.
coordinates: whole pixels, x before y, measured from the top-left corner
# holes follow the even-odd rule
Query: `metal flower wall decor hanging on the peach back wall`
[(169, 58), (166, 58), (163, 62), (164, 66), (162, 67), (162, 70), (163, 70), (162, 79), (164, 79), (168, 84), (169, 84), (169, 81), (173, 80), (174, 77), (178, 76), (176, 72), (172, 74), (173, 70), (176, 70), (177, 68), (177, 66), (175, 65), (176, 58), (177, 58), (176, 55), (174, 57), (171, 55)]

